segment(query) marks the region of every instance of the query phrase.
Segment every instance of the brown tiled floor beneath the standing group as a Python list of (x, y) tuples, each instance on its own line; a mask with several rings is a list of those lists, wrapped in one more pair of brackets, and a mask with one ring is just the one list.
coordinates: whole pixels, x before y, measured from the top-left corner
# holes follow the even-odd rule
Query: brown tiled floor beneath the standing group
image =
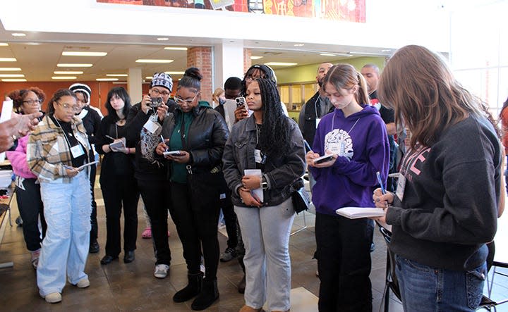
[[(0, 263), (13, 261), (12, 268), (0, 269), (0, 311), (191, 311), (191, 301), (175, 304), (171, 297), (176, 289), (186, 285), (186, 265), (182, 256), (181, 243), (174, 224), (169, 220), (171, 237), (171, 269), (169, 277), (159, 280), (153, 277), (154, 257), (150, 239), (138, 239), (135, 261), (125, 264), (114, 261), (101, 266), (104, 256), (105, 216), (100, 189), (96, 189), (99, 220), (99, 254), (90, 254), (86, 272), (91, 286), (78, 289), (67, 285), (63, 289), (61, 304), (47, 304), (37, 292), (35, 270), (30, 266), (30, 254), (25, 248), (20, 227), (6, 225), (4, 239), (0, 245)], [(141, 207), (141, 206), (140, 206)], [(145, 227), (143, 213), (138, 208), (138, 235)], [(18, 216), (13, 207), (13, 220)], [(5, 223), (4, 223), (5, 224)], [(292, 266), (291, 311), (317, 311), (319, 280), (315, 276), (316, 261), (314, 216), (306, 213), (308, 228), (291, 236), (290, 252)], [(294, 231), (303, 226), (303, 215), (297, 216)], [(1, 229), (0, 229), (1, 230)], [(221, 250), (226, 247), (226, 237), (219, 233)], [(385, 287), (386, 245), (379, 232), (375, 231), (376, 249), (372, 254), (373, 266), (370, 275), (373, 284), (373, 311), (382, 311), (382, 292)], [(500, 247), (498, 247), (500, 248)], [(122, 258), (122, 255), (121, 257)], [(236, 312), (243, 306), (243, 295), (238, 294), (236, 283), (241, 279), (241, 268), (236, 261), (219, 263), (218, 284), (220, 299), (206, 311)], [(496, 277), (495, 294), (508, 297), (508, 278)], [(497, 289), (497, 290), (496, 290)], [(508, 308), (508, 304), (507, 304)], [(397, 299), (390, 300), (389, 311), (402, 311)], [(498, 308), (497, 311), (508, 311)]]

